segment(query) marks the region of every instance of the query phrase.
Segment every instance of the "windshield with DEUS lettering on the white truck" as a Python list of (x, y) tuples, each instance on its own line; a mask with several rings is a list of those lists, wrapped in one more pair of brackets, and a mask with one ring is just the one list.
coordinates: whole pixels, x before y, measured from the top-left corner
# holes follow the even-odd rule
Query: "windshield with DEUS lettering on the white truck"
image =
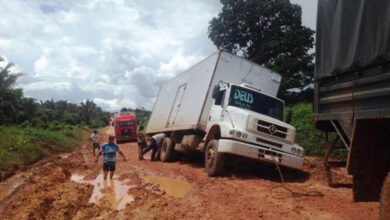
[(283, 102), (239, 86), (232, 86), (229, 105), (283, 120)]

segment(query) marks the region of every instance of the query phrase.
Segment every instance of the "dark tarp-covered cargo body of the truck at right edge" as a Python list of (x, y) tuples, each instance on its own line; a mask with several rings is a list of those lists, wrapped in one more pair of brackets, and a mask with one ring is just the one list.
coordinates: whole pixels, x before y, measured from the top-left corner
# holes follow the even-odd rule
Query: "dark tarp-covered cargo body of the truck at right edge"
[(389, 61), (390, 1), (319, 0), (317, 128), (350, 139), (354, 119), (390, 117)]

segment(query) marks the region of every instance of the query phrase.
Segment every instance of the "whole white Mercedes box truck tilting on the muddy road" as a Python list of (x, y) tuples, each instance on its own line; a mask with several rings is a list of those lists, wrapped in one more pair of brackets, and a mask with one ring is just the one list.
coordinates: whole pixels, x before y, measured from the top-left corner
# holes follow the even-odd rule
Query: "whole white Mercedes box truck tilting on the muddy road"
[(209, 176), (223, 171), (224, 156), (238, 155), (301, 169), (303, 149), (276, 98), (281, 76), (218, 51), (165, 83), (146, 133), (165, 133), (160, 159), (174, 149), (205, 154)]

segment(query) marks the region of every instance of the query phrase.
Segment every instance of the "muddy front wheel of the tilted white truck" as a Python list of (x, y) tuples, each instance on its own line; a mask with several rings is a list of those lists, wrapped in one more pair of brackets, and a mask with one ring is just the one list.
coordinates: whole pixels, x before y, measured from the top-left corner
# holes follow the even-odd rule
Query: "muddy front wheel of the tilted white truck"
[(205, 167), (209, 176), (218, 176), (223, 171), (224, 155), (218, 152), (218, 140), (211, 140), (205, 151)]

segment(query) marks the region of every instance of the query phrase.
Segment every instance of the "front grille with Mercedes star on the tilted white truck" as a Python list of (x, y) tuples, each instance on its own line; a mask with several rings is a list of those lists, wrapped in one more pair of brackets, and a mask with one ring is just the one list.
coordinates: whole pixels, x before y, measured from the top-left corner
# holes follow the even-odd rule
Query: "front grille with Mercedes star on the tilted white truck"
[(286, 139), (288, 132), (288, 129), (286, 127), (272, 124), (270, 122), (263, 121), (255, 117), (250, 117), (248, 129), (283, 139)]

